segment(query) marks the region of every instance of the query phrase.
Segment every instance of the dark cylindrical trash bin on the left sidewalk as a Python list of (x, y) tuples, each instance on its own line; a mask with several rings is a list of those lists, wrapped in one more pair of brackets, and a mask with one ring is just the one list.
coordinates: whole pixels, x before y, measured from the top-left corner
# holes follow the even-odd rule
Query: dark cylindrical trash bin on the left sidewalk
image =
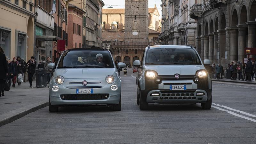
[(47, 86), (47, 73), (46, 69), (36, 70), (36, 87), (46, 87)]

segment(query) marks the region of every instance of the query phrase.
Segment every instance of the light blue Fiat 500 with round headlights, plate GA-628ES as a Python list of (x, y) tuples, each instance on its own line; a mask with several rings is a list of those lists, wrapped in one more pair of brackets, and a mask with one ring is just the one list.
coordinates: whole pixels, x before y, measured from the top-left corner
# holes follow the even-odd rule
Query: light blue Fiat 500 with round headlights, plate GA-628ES
[[(48, 65), (55, 68), (55, 64)], [(121, 110), (121, 79), (111, 53), (104, 49), (70, 49), (60, 56), (49, 84), (49, 111), (60, 106), (106, 105)]]

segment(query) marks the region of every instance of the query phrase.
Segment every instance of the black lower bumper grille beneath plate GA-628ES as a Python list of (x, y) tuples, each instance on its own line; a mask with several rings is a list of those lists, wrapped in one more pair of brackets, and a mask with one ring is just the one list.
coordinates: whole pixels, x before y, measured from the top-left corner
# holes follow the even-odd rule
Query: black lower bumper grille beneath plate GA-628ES
[(62, 94), (62, 100), (106, 100), (109, 94)]

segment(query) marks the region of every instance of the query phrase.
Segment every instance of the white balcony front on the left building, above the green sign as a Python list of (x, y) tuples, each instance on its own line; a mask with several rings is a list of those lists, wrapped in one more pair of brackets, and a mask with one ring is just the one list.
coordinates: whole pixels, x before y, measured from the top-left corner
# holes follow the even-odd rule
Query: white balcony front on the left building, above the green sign
[(50, 15), (40, 6), (35, 6), (35, 12), (38, 13), (36, 18), (37, 23), (54, 30), (54, 17), (52, 15)]

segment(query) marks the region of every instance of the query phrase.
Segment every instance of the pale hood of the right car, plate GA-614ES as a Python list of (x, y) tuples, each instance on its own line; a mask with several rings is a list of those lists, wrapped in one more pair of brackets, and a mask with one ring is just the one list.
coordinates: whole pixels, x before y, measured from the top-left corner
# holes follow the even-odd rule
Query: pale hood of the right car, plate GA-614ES
[(158, 75), (195, 75), (199, 69), (205, 69), (203, 65), (146, 65), (146, 70), (155, 70)]

